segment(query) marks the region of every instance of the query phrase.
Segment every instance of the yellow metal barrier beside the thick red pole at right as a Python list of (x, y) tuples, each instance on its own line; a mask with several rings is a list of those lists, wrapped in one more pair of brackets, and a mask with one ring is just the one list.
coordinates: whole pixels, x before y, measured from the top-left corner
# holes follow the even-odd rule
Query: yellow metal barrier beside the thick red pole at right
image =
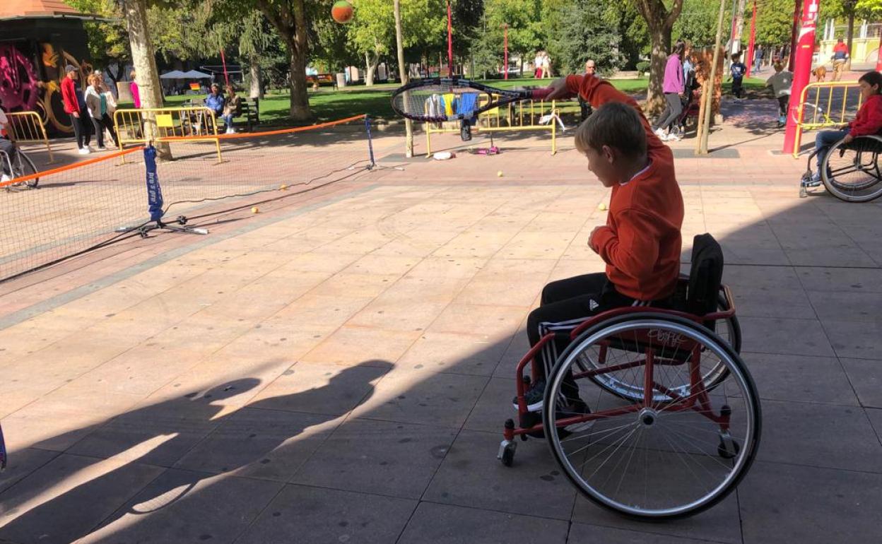
[[(841, 89), (841, 93), (833, 92)], [(813, 98), (808, 99), (809, 93)], [(839, 96), (841, 94), (841, 96)], [(796, 139), (793, 142), (793, 158), (799, 156), (805, 130), (826, 129), (848, 123), (861, 108), (862, 96), (856, 81), (821, 81), (803, 88), (796, 108)], [(849, 105), (848, 100), (856, 104)]]

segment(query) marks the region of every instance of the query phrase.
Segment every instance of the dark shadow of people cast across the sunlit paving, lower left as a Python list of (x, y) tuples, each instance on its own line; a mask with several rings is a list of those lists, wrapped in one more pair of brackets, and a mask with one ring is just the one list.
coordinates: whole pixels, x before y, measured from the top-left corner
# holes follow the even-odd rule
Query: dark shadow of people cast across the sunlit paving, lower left
[[(0, 527), (0, 540), (72, 542), (128, 514), (164, 509), (191, 495), (200, 483), (223, 474), (287, 481), (333, 428), (321, 426), (370, 399), (372, 382), (389, 369), (392, 363), (364, 361), (310, 387), (298, 376), (321, 382), (321, 374), (295, 366), (281, 376), (286, 382), (282, 387), (295, 391), (288, 394), (270, 396), (272, 390), (264, 391), (256, 400), (239, 405), (235, 397), (253, 395), (261, 384), (247, 377), (116, 416), (71, 446), (66, 459), (56, 459), (70, 466), (49, 471), (49, 477), (39, 481), (25, 478), (4, 492), (4, 514), (11, 516), (20, 507), (27, 508), (34, 497), (70, 479), (71, 473), (95, 473)], [(170, 477), (157, 478), (169, 472)], [(131, 482), (131, 487), (120, 482)], [(136, 495), (137, 501), (126, 503)], [(120, 503), (125, 504), (117, 508)], [(101, 513), (102, 509), (113, 511)], [(124, 532), (116, 531), (115, 538), (123, 538)]]

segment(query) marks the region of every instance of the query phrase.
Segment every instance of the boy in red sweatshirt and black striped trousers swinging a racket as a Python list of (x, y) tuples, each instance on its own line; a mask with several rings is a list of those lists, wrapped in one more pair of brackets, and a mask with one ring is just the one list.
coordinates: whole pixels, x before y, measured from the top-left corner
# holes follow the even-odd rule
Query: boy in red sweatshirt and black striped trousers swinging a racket
[[(549, 89), (546, 100), (578, 93), (594, 108), (579, 125), (576, 148), (587, 158), (588, 170), (611, 190), (606, 224), (595, 227), (588, 238), (588, 245), (606, 263), (606, 272), (546, 285), (540, 307), (527, 317), (531, 346), (549, 332), (572, 331), (608, 309), (667, 305), (679, 277), (682, 245), (684, 205), (674, 156), (654, 134), (637, 102), (592, 75), (560, 78)], [(539, 354), (537, 362), (545, 376), (567, 343), (556, 339)], [(544, 389), (542, 378), (527, 391), (531, 412), (542, 410)], [(559, 412), (588, 412), (572, 376), (564, 379), (564, 394)]]

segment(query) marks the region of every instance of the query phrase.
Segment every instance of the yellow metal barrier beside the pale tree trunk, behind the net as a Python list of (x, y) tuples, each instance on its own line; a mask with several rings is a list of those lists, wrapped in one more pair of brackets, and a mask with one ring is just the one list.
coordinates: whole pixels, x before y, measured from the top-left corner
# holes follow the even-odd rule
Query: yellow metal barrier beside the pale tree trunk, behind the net
[[(117, 109), (114, 112), (116, 135), (121, 149), (127, 144), (144, 145), (156, 141), (186, 141), (187, 138), (213, 141), (221, 161), (214, 112), (204, 106), (188, 108)], [(145, 127), (153, 130), (145, 130)], [(207, 137), (207, 138), (206, 138)]]

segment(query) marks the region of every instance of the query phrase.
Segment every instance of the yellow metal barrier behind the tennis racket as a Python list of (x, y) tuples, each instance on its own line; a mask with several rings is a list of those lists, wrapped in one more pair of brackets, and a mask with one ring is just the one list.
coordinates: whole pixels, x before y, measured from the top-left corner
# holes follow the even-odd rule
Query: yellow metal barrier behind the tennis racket
[[(486, 103), (486, 95), (481, 95), (479, 105)], [(542, 117), (549, 121), (540, 124)], [(478, 116), (472, 132), (505, 132), (517, 130), (549, 130), (551, 132), (551, 154), (557, 153), (557, 117), (555, 101), (519, 101), (502, 108), (492, 108)], [(425, 123), (426, 156), (432, 154), (432, 134), (445, 134), (460, 131), (460, 122)]]

